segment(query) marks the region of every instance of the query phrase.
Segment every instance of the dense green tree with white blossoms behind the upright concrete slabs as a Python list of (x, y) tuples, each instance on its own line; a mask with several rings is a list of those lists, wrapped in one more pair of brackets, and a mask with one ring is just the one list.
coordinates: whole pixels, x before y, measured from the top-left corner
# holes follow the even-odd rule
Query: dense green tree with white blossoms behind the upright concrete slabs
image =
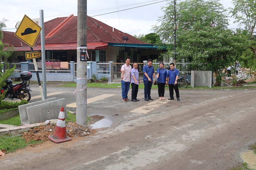
[[(230, 29), (210, 26), (200, 30), (183, 31), (178, 47), (180, 56), (189, 58), (194, 64), (205, 63), (216, 75), (216, 84), (221, 82), (221, 71), (227, 65), (234, 65), (248, 48), (248, 38)], [(236, 72), (234, 72), (236, 79)]]

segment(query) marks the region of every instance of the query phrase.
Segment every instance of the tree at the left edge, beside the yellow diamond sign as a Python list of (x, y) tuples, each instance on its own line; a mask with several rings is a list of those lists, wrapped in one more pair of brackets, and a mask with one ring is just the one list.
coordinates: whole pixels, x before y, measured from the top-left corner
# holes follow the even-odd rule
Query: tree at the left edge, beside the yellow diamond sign
[[(6, 27), (6, 25), (5, 25), (6, 21), (7, 21), (6, 19), (3, 19), (2, 21), (0, 21), (0, 57), (7, 57), (8, 58), (12, 55), (14, 47), (13, 46), (10, 47), (8, 44), (4, 44), (2, 42), (2, 39), (3, 39), (2, 30), (3, 30), (3, 28)], [(5, 49), (5, 46), (7, 47), (6, 49)]]

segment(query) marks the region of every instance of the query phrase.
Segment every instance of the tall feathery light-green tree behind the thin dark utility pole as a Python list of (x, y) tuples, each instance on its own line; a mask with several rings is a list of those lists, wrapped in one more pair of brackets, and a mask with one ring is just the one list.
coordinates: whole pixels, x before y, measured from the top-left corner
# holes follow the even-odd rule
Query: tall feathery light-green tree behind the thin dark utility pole
[[(158, 19), (161, 24), (155, 25), (153, 31), (160, 36), (163, 43), (170, 44), (170, 36), (174, 33), (173, 0), (169, 1), (162, 9), (164, 16)], [(185, 30), (197, 30), (205, 26), (227, 28), (226, 11), (218, 0), (185, 0), (176, 3), (176, 20), (179, 21), (176, 33), (181, 35)]]

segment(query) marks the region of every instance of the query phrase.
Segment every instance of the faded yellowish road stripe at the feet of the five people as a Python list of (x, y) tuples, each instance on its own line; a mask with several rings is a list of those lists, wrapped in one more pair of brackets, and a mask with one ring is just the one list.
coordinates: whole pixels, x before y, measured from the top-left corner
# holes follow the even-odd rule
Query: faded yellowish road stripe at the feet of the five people
[(145, 104), (144, 106), (141, 106), (141, 107), (138, 107), (136, 109), (133, 109), (131, 110), (130, 112), (133, 112), (133, 113), (143, 113), (143, 114), (146, 114), (156, 108), (159, 108), (161, 106), (163, 106), (163, 104), (165, 103), (168, 103), (170, 100), (155, 100), (155, 101), (152, 101), (148, 104)]

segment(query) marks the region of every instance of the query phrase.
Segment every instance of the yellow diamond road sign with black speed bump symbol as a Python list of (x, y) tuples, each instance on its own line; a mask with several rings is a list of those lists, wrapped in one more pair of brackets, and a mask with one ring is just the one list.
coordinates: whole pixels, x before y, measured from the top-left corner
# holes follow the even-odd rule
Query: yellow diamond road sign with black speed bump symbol
[(24, 15), (14, 35), (33, 48), (41, 29), (33, 20)]

